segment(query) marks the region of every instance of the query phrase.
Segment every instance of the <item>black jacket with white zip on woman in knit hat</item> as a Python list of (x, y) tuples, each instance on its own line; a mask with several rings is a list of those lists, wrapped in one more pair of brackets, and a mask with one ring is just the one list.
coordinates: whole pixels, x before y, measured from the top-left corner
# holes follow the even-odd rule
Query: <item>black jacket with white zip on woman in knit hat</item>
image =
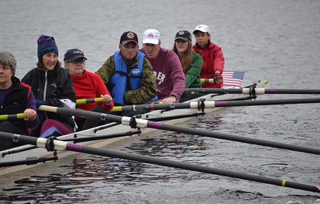
[[(66, 105), (61, 100), (69, 100), (69, 102), (74, 103), (77, 100), (71, 75), (64, 68), (60, 68), (59, 73), (55, 73), (55, 70), (47, 71), (42, 68), (33, 68), (24, 76), (21, 82), (30, 85), (35, 99), (44, 100), (48, 106), (64, 107)], [(37, 111), (37, 114), (40, 120), (39, 127), (42, 127), (46, 119), (66, 122), (71, 127), (75, 127), (75, 122), (71, 116), (46, 111)]]

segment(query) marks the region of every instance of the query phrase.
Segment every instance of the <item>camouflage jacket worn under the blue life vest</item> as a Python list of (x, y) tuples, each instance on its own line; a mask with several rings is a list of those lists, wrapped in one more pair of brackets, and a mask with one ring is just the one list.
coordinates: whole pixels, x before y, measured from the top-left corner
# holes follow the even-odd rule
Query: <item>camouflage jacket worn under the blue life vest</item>
[[(120, 53), (121, 55), (121, 53)], [(121, 55), (123, 57), (123, 55)], [(124, 58), (123, 58), (124, 59)], [(135, 66), (138, 63), (137, 55), (134, 57), (131, 64), (127, 63), (127, 71), (130, 71), (132, 66)], [(110, 78), (116, 73), (114, 66), (114, 56), (110, 56), (105, 64), (101, 66), (101, 68), (96, 71), (96, 74), (101, 77), (105, 84), (108, 84)], [(143, 68), (142, 68), (142, 80), (140, 82), (140, 88), (132, 91), (130, 88), (129, 80), (127, 80), (126, 91), (125, 91), (125, 100), (124, 105), (132, 105), (132, 104), (145, 104), (154, 99), (157, 95), (156, 88), (156, 79), (153, 74), (152, 66), (147, 58), (143, 59)]]

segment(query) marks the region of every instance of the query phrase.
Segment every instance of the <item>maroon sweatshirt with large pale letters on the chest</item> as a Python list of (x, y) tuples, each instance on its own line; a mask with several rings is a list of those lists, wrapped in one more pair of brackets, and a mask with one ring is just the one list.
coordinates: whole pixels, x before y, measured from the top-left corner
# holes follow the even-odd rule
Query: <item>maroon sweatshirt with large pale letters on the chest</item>
[[(140, 51), (145, 53), (143, 48)], [(184, 87), (186, 87), (186, 80), (177, 54), (172, 50), (160, 48), (157, 59), (150, 62), (156, 77), (158, 98), (163, 99), (175, 95), (179, 102)]]

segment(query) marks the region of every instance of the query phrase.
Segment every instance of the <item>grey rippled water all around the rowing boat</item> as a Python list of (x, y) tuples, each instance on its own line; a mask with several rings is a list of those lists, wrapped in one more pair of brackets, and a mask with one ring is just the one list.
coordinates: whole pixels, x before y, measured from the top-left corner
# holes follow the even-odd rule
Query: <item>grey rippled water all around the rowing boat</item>
[[(121, 34), (148, 28), (171, 48), (175, 33), (211, 28), (225, 71), (246, 71), (245, 83), (269, 89), (320, 88), (320, 1), (3, 1), (0, 49), (17, 58), (17, 77), (37, 62), (37, 38), (52, 35), (60, 51), (80, 48), (97, 71)], [(193, 42), (194, 39), (193, 39)], [(142, 46), (142, 44), (140, 44)], [(259, 95), (258, 99), (319, 98)], [(319, 148), (319, 104), (225, 108), (187, 127)], [(110, 147), (295, 183), (320, 184), (319, 156), (215, 138), (157, 131)], [(0, 203), (320, 203), (320, 194), (237, 178), (78, 155), (32, 172), (1, 176)]]

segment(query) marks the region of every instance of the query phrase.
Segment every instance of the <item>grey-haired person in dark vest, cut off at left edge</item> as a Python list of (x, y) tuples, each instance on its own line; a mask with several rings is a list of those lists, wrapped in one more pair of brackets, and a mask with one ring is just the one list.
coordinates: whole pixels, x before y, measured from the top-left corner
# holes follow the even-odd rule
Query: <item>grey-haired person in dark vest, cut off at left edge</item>
[[(28, 135), (28, 129), (38, 127), (39, 118), (33, 91), (15, 77), (16, 69), (12, 53), (0, 51), (0, 115), (24, 113), (24, 120), (1, 121), (0, 131)], [(12, 147), (17, 147), (17, 143), (0, 140), (0, 151)]]

